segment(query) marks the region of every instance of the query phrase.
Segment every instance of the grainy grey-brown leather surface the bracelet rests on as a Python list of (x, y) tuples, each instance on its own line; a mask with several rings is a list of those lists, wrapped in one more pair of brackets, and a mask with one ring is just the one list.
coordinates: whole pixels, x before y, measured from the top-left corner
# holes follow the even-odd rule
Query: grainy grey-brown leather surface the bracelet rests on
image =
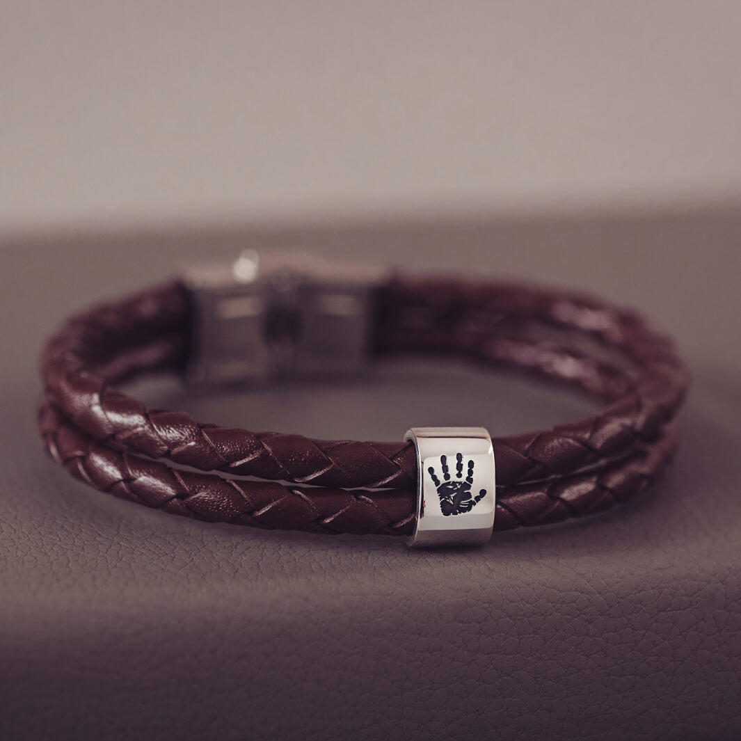
[[(739, 233), (741, 218), (717, 212), (2, 245), (0, 738), (740, 738)], [(482, 551), (410, 552), (382, 536), (190, 522), (44, 457), (36, 352), (59, 318), (186, 258), (278, 242), (645, 310), (695, 376), (674, 468), (608, 514)], [(140, 391), (205, 420), (363, 439), (525, 431), (591, 408), (414, 364), (337, 388)]]

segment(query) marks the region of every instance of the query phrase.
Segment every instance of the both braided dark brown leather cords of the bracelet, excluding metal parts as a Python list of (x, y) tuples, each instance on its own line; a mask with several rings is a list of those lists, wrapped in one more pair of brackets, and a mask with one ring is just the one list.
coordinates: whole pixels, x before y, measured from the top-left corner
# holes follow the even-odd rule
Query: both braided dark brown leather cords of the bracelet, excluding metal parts
[[(281, 290), (294, 314), (297, 297), (310, 296), (296, 285)], [(205, 425), (114, 388), (141, 373), (188, 368), (198, 350), (196, 293), (182, 282), (162, 285), (85, 311), (50, 338), (41, 359), (47, 402), (40, 429), (53, 457), (103, 491), (200, 519), (331, 533), (413, 531), (420, 473), (412, 442)], [(597, 416), (493, 440), (496, 530), (608, 508), (642, 491), (671, 459), (688, 374), (671, 341), (634, 313), (501, 282), (396, 277), (368, 296), (371, 354), (379, 359), (455, 356), (545, 376), (605, 402)], [(259, 319), (264, 333), (270, 317)], [(459, 462), (462, 479), (460, 469)]]

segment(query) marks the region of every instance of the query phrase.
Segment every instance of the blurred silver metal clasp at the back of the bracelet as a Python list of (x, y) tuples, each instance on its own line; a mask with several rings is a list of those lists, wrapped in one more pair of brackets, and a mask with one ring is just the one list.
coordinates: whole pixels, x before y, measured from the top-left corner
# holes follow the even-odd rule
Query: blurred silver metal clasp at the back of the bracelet
[(365, 367), (373, 289), (388, 270), (305, 253), (246, 250), (191, 268), (196, 384), (342, 376)]

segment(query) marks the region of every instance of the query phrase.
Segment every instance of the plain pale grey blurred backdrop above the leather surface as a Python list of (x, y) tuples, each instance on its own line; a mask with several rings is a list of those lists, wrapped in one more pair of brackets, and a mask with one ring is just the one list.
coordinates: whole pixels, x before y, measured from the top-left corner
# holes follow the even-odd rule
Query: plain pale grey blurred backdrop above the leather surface
[(0, 232), (741, 198), (737, 0), (0, 2)]

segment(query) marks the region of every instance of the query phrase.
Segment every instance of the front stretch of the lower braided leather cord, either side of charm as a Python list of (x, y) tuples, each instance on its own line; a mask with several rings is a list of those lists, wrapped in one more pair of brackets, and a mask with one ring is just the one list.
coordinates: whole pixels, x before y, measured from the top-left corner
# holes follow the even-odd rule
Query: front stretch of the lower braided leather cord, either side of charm
[[(411, 490), (299, 488), (179, 471), (107, 448), (48, 402), (39, 413), (39, 431), (53, 459), (76, 479), (171, 514), (324, 534), (410, 534), (413, 529), (416, 493)], [(671, 460), (675, 445), (671, 429), (600, 471), (540, 485), (497, 487), (494, 529), (559, 522), (610, 508), (650, 485)]]

